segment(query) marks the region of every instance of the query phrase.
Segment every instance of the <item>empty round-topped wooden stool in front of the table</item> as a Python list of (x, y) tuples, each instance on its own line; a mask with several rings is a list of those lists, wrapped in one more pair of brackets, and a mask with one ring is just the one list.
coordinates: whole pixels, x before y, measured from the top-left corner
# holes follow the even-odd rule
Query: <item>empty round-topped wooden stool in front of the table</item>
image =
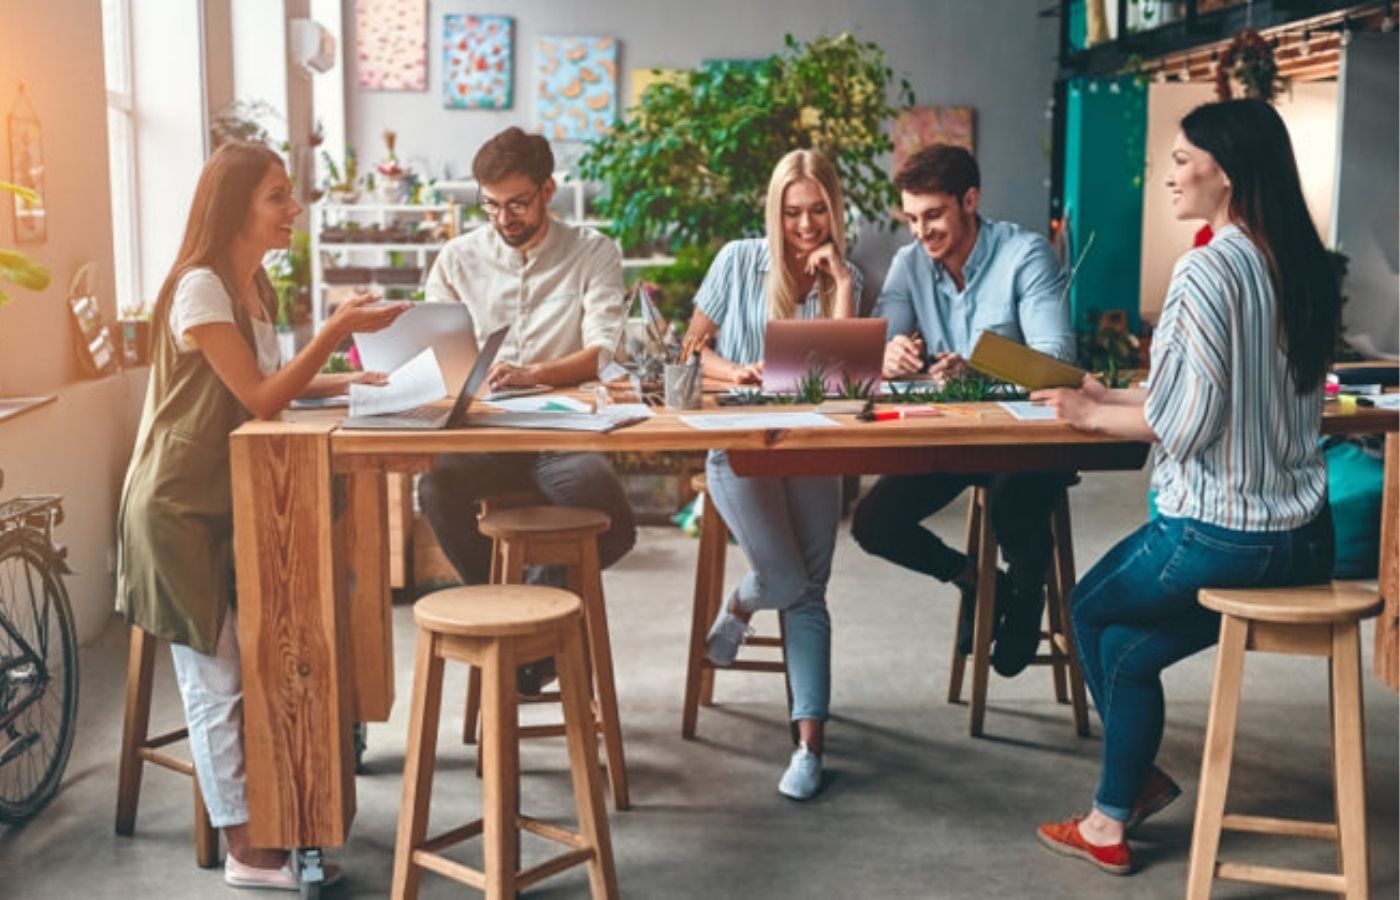
[[(616, 897), (608, 810), (598, 774), (598, 743), (588, 701), (582, 616), (578, 598), (567, 591), (529, 585), (449, 588), (413, 606), (419, 626), (413, 663), (409, 746), (403, 760), (403, 803), (393, 851), (393, 897), (417, 897), (423, 869), (463, 882), (487, 897), (514, 897), (556, 872), (588, 865), (592, 896)], [(522, 662), (553, 656), (564, 705), (568, 768), (578, 809), (578, 831), (519, 815), (515, 669)], [(427, 837), (433, 799), (438, 717), (442, 710), (442, 661), (456, 659), (482, 669), (484, 689), (482, 743), (487, 749), (482, 780), (482, 819)], [(519, 830), (557, 841), (568, 851), (524, 872)], [(472, 869), (440, 851), (482, 834), (483, 869)]]

